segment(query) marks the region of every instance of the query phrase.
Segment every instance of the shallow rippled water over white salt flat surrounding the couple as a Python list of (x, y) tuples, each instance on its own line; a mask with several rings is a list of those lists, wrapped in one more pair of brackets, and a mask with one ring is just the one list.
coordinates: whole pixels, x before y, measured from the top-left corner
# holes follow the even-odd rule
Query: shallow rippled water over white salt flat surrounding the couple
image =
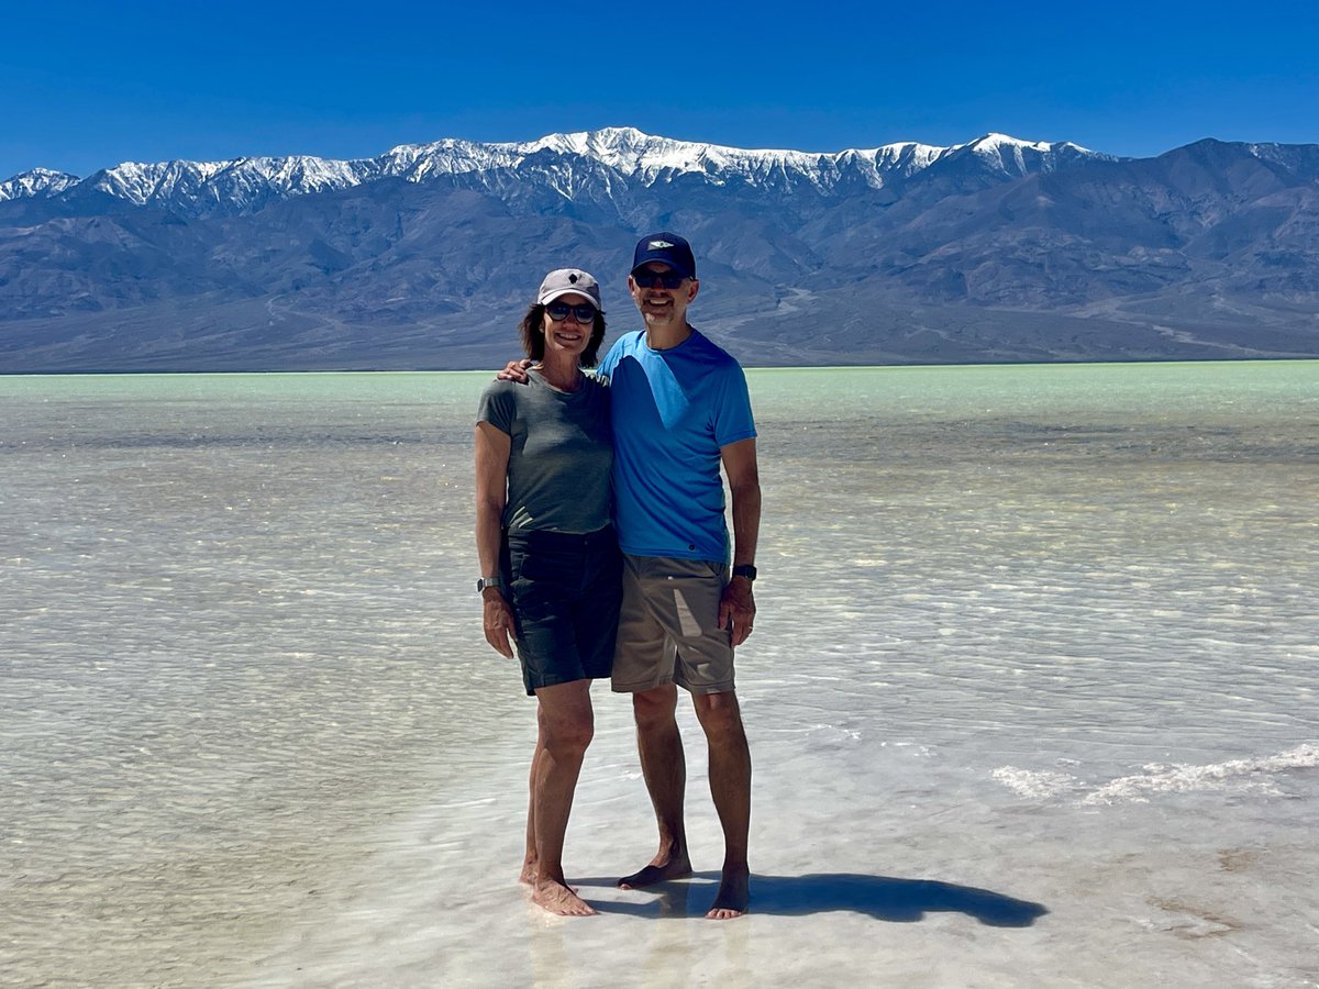
[(628, 705), (516, 884), (485, 375), (0, 378), (15, 984), (1319, 984), (1319, 364), (756, 371), (753, 914)]

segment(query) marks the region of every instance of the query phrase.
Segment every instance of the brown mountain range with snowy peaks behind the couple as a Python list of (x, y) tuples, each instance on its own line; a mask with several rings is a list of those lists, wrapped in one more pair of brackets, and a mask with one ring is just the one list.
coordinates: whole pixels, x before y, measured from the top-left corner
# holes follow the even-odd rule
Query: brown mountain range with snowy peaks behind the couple
[(0, 372), (485, 368), (641, 233), (749, 365), (1319, 356), (1319, 145), (987, 135), (745, 150), (632, 128), (0, 182)]

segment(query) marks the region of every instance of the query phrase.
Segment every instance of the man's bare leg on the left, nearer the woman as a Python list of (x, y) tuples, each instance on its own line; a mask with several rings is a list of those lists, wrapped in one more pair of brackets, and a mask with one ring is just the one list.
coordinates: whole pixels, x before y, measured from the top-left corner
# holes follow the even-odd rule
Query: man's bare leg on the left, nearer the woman
[(671, 683), (632, 695), (641, 774), (646, 779), (650, 804), (656, 811), (660, 851), (644, 869), (619, 880), (621, 889), (642, 889), (665, 880), (691, 876), (687, 832), (682, 820), (687, 762), (682, 753), (677, 709), (678, 688)]

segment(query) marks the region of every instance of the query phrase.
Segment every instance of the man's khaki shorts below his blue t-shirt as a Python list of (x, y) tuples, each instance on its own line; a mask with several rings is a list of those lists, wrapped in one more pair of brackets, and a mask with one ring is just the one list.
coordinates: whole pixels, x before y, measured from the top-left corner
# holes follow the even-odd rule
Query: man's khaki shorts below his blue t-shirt
[(692, 694), (731, 691), (733, 647), (729, 630), (719, 628), (727, 584), (727, 563), (624, 555), (615, 692), (666, 683)]

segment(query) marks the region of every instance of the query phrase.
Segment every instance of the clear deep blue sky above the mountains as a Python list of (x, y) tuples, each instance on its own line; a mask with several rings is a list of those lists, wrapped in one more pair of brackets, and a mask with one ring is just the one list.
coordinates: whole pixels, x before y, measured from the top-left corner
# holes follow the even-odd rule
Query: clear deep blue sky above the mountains
[(801, 150), (1319, 142), (1312, 0), (7, 7), (0, 178), (612, 125)]

